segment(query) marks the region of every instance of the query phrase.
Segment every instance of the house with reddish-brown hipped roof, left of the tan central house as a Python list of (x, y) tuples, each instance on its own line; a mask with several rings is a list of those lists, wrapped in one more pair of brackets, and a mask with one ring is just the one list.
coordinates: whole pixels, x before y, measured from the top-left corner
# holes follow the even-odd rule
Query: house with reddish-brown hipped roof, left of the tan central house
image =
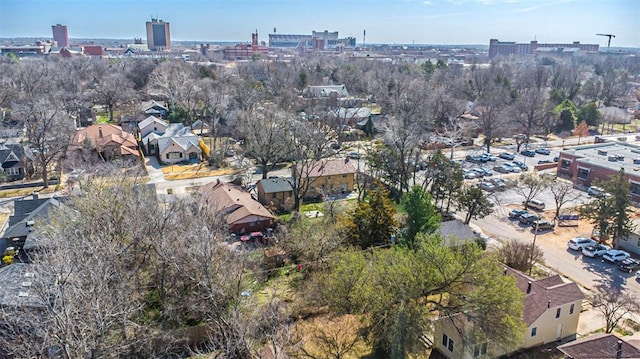
[(200, 187), (212, 217), (222, 216), (231, 232), (251, 233), (273, 226), (275, 217), (242, 188), (220, 180)]

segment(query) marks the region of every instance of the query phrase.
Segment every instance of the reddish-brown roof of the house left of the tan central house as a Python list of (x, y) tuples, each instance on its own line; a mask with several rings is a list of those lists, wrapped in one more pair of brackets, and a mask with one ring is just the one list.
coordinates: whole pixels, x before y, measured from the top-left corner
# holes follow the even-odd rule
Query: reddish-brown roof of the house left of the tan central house
[(232, 224), (247, 216), (275, 219), (262, 203), (251, 197), (251, 193), (231, 184), (212, 182), (200, 187), (204, 200), (214, 214), (226, 215), (227, 223)]

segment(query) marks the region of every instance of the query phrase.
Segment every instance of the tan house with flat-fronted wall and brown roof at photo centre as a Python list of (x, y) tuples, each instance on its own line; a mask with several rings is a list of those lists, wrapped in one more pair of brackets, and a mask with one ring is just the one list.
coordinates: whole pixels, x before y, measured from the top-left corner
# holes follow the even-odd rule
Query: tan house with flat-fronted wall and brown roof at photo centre
[[(320, 198), (353, 191), (356, 166), (349, 158), (322, 160), (304, 166), (291, 167), (292, 177), (309, 181), (307, 198)], [(296, 177), (299, 174), (299, 177)]]

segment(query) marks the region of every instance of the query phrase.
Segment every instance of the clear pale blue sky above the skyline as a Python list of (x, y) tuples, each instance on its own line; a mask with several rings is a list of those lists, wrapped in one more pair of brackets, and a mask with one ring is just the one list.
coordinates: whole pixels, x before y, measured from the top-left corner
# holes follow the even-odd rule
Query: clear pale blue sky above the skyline
[[(151, 17), (171, 39), (250, 42), (338, 31), (358, 44), (596, 43), (640, 48), (640, 0), (0, 0), (0, 37), (146, 39)], [(366, 38), (363, 39), (363, 31)]]

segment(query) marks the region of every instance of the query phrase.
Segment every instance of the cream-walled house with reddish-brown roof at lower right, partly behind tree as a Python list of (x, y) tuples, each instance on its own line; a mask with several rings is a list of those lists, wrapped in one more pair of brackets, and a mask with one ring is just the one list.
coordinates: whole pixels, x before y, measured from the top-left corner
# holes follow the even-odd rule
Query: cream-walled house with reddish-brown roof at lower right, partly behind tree
[(532, 348), (566, 338), (575, 338), (584, 294), (578, 285), (564, 282), (559, 275), (534, 279), (517, 270), (505, 267), (504, 275), (516, 279), (525, 295), (523, 321), (527, 327), (524, 341), (517, 348), (507, 350), (491, 342), (474, 343), (466, 328), (465, 314), (447, 316), (436, 321), (434, 349), (446, 358), (489, 358), (519, 349)]

